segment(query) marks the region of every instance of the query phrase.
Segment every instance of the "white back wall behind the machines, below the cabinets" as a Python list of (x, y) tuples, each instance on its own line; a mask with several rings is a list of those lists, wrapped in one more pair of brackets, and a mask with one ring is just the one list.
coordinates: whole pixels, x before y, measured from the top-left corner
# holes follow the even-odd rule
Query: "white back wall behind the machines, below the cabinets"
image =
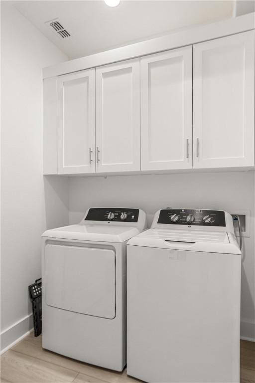
[(166, 206), (250, 210), (251, 236), (244, 238), (242, 266), (243, 337), (255, 339), (255, 174), (188, 173), (69, 179), (69, 221), (77, 223), (96, 206), (130, 206), (151, 217)]

